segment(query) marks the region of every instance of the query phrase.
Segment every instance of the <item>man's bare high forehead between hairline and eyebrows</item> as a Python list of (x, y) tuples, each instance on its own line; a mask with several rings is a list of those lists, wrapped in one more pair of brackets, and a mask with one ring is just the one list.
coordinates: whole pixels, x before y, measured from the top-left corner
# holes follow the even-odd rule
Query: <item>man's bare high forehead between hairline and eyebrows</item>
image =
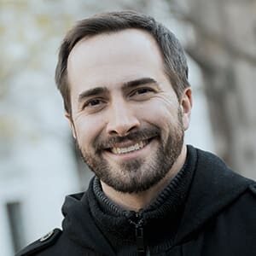
[(124, 83), (163, 73), (160, 49), (154, 38), (138, 29), (125, 29), (84, 38), (76, 44), (67, 61), (71, 87)]

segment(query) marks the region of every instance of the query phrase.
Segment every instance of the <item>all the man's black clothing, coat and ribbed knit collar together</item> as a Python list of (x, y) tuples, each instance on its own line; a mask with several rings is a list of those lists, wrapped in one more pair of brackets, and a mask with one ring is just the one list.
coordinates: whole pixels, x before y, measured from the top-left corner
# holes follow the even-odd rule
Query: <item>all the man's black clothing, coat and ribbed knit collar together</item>
[[(211, 153), (188, 152), (177, 177), (141, 212), (147, 255), (256, 255), (256, 183)], [(19, 255), (137, 255), (128, 219), (139, 219), (109, 201), (96, 179), (87, 192), (68, 195), (62, 212), (55, 243)]]

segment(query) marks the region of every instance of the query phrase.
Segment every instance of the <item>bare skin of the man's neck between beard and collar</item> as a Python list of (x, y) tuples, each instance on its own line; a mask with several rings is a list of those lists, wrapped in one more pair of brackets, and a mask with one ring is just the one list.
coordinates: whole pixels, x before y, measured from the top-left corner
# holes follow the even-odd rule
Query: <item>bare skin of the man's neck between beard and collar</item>
[(177, 172), (181, 170), (186, 160), (187, 147), (183, 145), (182, 152), (178, 156), (177, 160), (173, 164), (171, 170), (166, 174), (166, 177), (162, 178), (159, 183), (155, 184), (150, 189), (147, 189), (139, 193), (122, 193), (106, 183), (102, 183), (102, 190), (108, 198), (120, 207), (138, 212), (140, 209), (148, 206), (153, 201), (160, 191), (166, 187), (168, 183), (176, 176)]

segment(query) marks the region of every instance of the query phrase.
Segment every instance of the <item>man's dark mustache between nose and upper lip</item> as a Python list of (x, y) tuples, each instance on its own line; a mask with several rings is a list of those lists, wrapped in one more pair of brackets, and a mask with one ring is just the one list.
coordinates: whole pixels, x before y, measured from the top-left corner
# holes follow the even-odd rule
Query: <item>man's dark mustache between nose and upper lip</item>
[(124, 137), (108, 136), (107, 138), (103, 138), (103, 136), (99, 136), (96, 138), (93, 146), (96, 148), (96, 151), (101, 151), (102, 149), (113, 148), (116, 143), (124, 143), (126, 141), (143, 141), (152, 137), (160, 137), (160, 128), (156, 126), (143, 128), (138, 131), (131, 131)]

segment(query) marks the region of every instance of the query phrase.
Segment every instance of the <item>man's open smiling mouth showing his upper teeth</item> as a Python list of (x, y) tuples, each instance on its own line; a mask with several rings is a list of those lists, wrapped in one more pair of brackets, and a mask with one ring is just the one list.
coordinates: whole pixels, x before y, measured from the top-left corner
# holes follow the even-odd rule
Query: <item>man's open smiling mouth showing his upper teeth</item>
[(153, 138), (142, 140), (137, 143), (125, 143), (123, 145), (120, 144), (120, 145), (116, 145), (113, 148), (108, 148), (107, 150), (112, 154), (128, 154), (128, 153), (145, 148), (148, 145), (148, 143), (150, 143), (152, 140)]

